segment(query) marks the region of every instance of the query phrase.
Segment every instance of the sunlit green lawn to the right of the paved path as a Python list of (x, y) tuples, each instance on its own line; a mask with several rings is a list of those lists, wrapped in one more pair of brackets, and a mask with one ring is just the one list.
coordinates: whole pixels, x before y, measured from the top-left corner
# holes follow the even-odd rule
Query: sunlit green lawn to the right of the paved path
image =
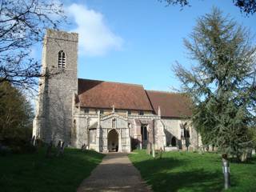
[[(154, 191), (222, 191), (223, 174), (218, 154), (166, 152), (152, 158), (135, 150), (129, 158)], [(226, 191), (256, 191), (256, 157), (247, 163), (230, 163), (231, 188)]]

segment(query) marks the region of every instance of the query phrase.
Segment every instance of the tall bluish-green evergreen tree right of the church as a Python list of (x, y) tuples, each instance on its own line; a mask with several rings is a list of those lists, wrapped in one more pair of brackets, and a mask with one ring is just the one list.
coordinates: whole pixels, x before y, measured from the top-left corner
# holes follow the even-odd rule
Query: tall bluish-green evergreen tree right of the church
[(177, 63), (174, 72), (194, 101), (194, 127), (205, 144), (241, 158), (253, 142), (248, 129), (255, 127), (256, 47), (250, 31), (214, 8), (198, 18), (184, 43), (195, 65), (186, 70)]

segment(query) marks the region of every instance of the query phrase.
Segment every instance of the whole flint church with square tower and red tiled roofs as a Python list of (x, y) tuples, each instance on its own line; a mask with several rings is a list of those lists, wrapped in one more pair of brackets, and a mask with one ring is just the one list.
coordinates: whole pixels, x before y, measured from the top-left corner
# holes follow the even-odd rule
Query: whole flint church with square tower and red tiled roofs
[(186, 95), (78, 78), (78, 34), (46, 31), (42, 73), (33, 135), (44, 142), (105, 153), (198, 147)]

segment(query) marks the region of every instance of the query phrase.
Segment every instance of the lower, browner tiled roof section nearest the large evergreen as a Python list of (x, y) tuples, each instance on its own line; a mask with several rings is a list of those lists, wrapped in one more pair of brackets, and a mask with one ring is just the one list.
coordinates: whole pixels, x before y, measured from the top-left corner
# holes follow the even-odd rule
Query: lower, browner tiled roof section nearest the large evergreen
[(158, 114), (158, 106), (161, 109), (161, 116), (166, 118), (190, 117), (191, 100), (185, 94), (168, 93), (163, 91), (146, 90), (154, 112)]

